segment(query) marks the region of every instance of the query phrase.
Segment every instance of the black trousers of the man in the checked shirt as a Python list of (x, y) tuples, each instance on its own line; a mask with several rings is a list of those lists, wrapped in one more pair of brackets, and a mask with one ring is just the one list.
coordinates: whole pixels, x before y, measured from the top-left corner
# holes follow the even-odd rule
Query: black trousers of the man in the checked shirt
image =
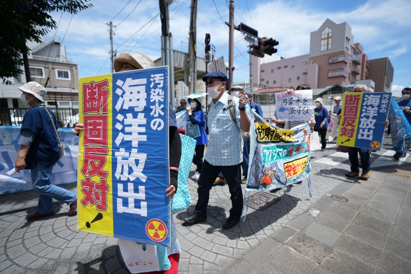
[(208, 161), (204, 161), (203, 169), (201, 170), (200, 178), (198, 180), (199, 200), (196, 204), (194, 214), (196, 216), (207, 215), (208, 199), (210, 198), (210, 189), (212, 188), (218, 173), (221, 171), (229, 185), (231, 194), (231, 210), (230, 216), (234, 219), (239, 219), (242, 213), (242, 190), (241, 190), (241, 164), (234, 166), (212, 166)]

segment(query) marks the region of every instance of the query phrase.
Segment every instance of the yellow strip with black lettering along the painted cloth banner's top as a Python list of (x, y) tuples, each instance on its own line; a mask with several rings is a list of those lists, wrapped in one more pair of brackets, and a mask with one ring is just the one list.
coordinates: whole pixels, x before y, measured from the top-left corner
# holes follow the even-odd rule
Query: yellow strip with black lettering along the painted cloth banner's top
[(256, 126), (257, 139), (260, 142), (298, 142), (298, 140), (293, 137), (293, 130), (277, 129), (267, 123), (261, 122), (255, 122), (254, 124)]

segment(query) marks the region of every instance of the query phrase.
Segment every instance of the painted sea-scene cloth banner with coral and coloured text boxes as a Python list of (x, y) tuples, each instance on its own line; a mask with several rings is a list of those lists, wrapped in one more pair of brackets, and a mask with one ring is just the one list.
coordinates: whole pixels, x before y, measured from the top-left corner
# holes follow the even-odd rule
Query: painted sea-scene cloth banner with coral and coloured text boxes
[(270, 190), (309, 177), (310, 124), (280, 129), (251, 115), (250, 168), (246, 191)]

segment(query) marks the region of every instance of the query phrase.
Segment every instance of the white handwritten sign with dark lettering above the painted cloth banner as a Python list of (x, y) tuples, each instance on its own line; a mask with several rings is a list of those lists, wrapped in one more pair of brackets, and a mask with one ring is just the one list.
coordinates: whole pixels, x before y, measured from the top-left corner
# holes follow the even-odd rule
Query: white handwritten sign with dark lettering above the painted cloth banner
[(277, 119), (287, 121), (309, 121), (314, 117), (312, 90), (295, 90), (294, 93), (275, 94)]

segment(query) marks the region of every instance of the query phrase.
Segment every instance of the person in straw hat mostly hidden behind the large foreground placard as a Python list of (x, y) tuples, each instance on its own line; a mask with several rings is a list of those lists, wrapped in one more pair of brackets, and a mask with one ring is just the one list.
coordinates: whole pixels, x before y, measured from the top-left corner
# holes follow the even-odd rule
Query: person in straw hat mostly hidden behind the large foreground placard
[[(147, 69), (155, 67), (154, 62), (143, 53), (120, 53), (114, 60), (114, 71), (130, 71), (135, 69)], [(75, 125), (75, 134), (79, 135), (84, 130), (83, 124)], [(177, 191), (178, 166), (181, 158), (181, 139), (178, 134), (177, 121), (173, 107), (169, 105), (169, 164), (170, 164), (170, 187), (166, 189), (166, 196), (173, 198)], [(171, 218), (171, 246), (167, 248), (167, 256), (171, 263), (169, 270), (147, 272), (147, 273), (177, 273), (178, 262), (180, 260), (180, 243), (178, 242), (177, 232), (175, 230), (173, 218)], [(144, 272), (146, 273), (146, 272)]]

